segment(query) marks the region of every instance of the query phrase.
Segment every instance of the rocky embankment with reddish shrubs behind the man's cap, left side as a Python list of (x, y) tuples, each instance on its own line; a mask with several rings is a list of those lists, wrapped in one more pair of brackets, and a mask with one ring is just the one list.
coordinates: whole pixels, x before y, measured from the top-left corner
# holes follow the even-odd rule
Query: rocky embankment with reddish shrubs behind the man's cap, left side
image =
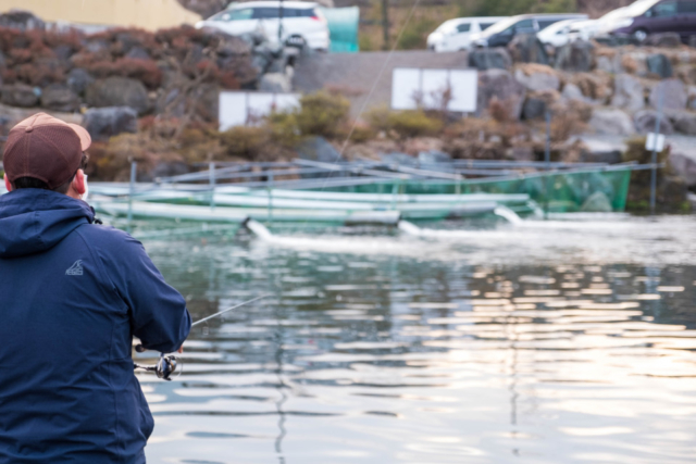
[[(0, 15), (0, 102), (85, 112), (96, 139), (136, 131), (146, 115), (214, 123), (220, 90), (283, 90), (266, 76), (286, 65), (284, 51), (258, 34), (233, 37), (183, 26), (85, 35), (54, 30), (29, 13)], [(4, 111), (5, 125), (12, 114)]]

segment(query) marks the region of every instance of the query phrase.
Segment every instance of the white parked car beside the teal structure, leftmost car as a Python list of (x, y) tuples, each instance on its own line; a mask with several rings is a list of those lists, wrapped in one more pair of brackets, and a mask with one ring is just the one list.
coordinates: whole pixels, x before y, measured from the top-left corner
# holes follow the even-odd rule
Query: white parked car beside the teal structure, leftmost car
[(214, 27), (233, 36), (262, 30), (272, 43), (278, 42), (281, 26), (283, 43), (306, 45), (314, 50), (328, 50), (331, 45), (328, 26), (316, 3), (301, 1), (233, 3), (226, 10), (196, 24), (199, 29)]

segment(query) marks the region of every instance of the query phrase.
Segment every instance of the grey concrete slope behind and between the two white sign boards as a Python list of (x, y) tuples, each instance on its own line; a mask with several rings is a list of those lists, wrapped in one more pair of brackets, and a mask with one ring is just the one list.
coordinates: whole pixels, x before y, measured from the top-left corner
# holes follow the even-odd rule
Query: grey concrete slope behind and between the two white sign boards
[[(386, 63), (386, 64), (385, 64)], [(322, 88), (340, 88), (350, 100), (350, 112), (358, 116), (365, 109), (389, 105), (391, 72), (395, 67), (467, 68), (467, 52), (435, 53), (427, 50), (360, 53), (314, 53), (302, 57), (295, 67), (293, 89), (313, 92)], [(382, 76), (380, 70), (384, 67)], [(370, 89), (374, 92), (368, 100)]]

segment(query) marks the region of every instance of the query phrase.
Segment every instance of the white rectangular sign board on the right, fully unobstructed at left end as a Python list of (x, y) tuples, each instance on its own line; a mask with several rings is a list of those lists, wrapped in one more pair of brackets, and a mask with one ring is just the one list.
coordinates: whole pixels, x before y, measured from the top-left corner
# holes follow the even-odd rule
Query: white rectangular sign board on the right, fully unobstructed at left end
[(391, 109), (476, 111), (478, 73), (475, 70), (397, 67), (391, 74)]

